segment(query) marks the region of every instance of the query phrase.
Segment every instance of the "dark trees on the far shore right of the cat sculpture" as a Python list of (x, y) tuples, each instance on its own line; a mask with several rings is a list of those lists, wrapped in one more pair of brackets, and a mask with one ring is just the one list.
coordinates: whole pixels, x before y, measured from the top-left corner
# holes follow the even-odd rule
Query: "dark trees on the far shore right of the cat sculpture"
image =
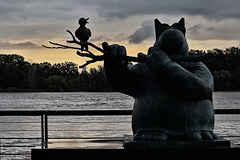
[(191, 55), (203, 56), (214, 77), (215, 91), (240, 91), (240, 48), (224, 50), (190, 50)]

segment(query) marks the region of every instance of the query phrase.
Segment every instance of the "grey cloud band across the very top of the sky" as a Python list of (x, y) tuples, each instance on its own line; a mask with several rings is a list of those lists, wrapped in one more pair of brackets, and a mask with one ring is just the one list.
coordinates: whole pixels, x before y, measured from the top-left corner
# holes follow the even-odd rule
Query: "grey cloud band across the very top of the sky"
[(69, 19), (81, 13), (106, 18), (134, 15), (198, 15), (239, 18), (239, 0), (1, 0), (0, 19)]

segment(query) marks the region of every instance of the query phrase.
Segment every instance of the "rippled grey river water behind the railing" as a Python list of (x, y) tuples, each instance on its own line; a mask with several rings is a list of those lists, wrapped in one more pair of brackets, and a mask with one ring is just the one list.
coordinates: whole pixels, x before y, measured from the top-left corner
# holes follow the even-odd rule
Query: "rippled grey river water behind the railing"
[[(0, 110), (132, 109), (133, 102), (133, 98), (120, 93), (0, 93)], [(240, 92), (215, 92), (214, 106), (216, 109), (240, 109)], [(232, 137), (240, 136), (240, 116), (216, 115), (215, 120), (215, 132), (219, 136), (224, 136), (226, 139), (230, 139), (233, 143), (240, 144), (239, 137)], [(40, 148), (40, 139), (34, 139), (41, 136), (40, 129), (40, 117), (0, 117), (0, 154), (9, 152), (29, 153), (31, 148)], [(103, 147), (94, 141), (80, 142), (77, 138), (118, 138), (126, 134), (132, 134), (131, 116), (49, 117), (50, 148)], [(64, 138), (76, 139), (66, 140)], [(11, 145), (30, 145), (30, 147), (7, 147)], [(18, 156), (18, 158), (19, 157), (20, 159), (26, 158), (26, 156)], [(6, 159), (11, 158), (8, 156)]]

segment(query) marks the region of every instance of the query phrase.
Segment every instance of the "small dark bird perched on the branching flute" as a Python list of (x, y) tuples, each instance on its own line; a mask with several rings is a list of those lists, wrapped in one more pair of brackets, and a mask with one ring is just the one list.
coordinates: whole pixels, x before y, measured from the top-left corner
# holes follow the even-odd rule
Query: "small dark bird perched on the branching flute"
[(88, 23), (89, 18), (80, 18), (78, 23), (80, 27), (75, 31), (75, 36), (80, 40), (81, 42), (81, 50), (82, 51), (88, 51), (88, 44), (87, 41), (91, 37), (91, 31), (86, 27), (86, 24)]

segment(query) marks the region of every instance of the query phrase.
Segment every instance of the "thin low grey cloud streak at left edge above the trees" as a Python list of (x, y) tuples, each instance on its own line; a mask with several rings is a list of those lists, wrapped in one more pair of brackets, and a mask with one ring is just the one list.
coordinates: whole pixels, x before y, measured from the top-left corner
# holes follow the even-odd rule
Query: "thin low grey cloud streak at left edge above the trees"
[(32, 42), (20, 42), (20, 43), (0, 42), (0, 50), (19, 50), (36, 48), (40, 48), (40, 46)]

